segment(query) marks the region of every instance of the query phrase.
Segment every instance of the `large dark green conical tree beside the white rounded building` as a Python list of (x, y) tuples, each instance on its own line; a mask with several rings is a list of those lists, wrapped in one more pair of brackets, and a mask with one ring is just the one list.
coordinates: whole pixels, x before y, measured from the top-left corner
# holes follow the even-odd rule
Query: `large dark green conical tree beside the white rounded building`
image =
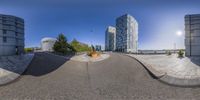
[(67, 54), (67, 52), (70, 51), (69, 44), (67, 43), (67, 38), (64, 36), (64, 34), (61, 33), (58, 35), (57, 41), (55, 42), (53, 49), (54, 51), (63, 54)]

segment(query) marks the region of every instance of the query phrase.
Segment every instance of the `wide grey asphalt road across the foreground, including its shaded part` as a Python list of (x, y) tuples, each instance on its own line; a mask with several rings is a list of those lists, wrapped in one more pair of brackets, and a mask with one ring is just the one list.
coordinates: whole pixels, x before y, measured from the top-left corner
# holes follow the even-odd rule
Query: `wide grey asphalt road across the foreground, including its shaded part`
[(0, 87), (3, 100), (199, 100), (200, 88), (168, 86), (140, 63), (111, 54), (96, 63), (37, 53), (26, 73)]

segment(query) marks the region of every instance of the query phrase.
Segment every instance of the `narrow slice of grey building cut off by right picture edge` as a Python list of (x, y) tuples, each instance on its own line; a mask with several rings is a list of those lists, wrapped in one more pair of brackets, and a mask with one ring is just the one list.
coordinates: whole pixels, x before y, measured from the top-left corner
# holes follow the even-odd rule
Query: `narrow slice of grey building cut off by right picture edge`
[(186, 56), (200, 56), (200, 14), (185, 16)]

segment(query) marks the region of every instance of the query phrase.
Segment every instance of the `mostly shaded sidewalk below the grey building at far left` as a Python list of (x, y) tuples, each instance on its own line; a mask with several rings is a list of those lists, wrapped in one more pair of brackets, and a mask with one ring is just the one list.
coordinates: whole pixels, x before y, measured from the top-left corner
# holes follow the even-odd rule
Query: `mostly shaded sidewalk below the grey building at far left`
[(0, 57), (0, 85), (18, 78), (32, 61), (34, 54), (1, 56)]

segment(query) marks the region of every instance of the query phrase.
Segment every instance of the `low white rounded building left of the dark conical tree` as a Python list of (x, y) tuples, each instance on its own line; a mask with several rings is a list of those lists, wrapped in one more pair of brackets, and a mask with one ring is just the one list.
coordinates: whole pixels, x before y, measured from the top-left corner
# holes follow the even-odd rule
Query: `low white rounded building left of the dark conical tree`
[(45, 37), (41, 40), (42, 51), (53, 51), (53, 46), (56, 42), (55, 38)]

